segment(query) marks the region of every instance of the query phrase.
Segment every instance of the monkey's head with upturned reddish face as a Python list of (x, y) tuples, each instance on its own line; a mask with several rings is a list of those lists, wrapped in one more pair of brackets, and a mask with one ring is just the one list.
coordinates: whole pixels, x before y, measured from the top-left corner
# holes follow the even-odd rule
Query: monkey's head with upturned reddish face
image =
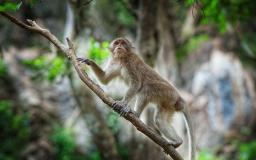
[(109, 49), (113, 54), (128, 54), (132, 52), (134, 47), (132, 47), (129, 40), (125, 38), (117, 38), (110, 43)]

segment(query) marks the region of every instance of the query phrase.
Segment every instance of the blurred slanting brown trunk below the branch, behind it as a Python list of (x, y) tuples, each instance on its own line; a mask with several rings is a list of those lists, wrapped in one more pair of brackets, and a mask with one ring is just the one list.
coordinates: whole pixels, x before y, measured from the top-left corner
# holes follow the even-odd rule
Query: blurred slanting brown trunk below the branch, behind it
[(94, 95), (92, 95), (91, 90), (87, 86), (82, 87), (82, 90), (82, 94), (79, 95), (82, 102), (82, 117), (85, 119), (92, 133), (93, 142), (100, 152), (101, 158), (106, 160), (121, 159), (115, 138), (109, 127), (107, 127), (107, 123), (101, 115), (101, 111), (97, 108)]

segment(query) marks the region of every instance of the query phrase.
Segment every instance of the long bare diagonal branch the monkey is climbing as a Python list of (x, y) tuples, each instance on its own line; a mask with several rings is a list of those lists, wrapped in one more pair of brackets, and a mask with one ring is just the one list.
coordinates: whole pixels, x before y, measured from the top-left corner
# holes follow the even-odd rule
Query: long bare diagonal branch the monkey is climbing
[[(110, 98), (109, 95), (107, 95), (103, 89), (101, 89), (100, 86), (95, 84), (88, 74), (85, 72), (84, 68), (82, 67), (81, 62), (78, 62), (76, 60), (76, 54), (73, 47), (73, 43), (71, 40), (67, 37), (67, 43), (69, 45), (69, 48), (66, 48), (66, 46), (63, 45), (48, 29), (42, 29), (39, 27), (35, 21), (27, 20), (32, 26), (28, 26), (21, 21), (17, 20), (17, 18), (13, 17), (10, 14), (7, 14), (7, 12), (0, 11), (0, 14), (4, 17), (8, 18), (9, 20), (13, 21), (13, 23), (17, 24), (17, 26), (20, 26), (26, 30), (29, 30), (30, 32), (39, 33), (44, 37), (47, 37), (53, 43), (55, 46), (57, 46), (58, 49), (60, 49), (66, 56), (69, 58), (69, 60), (72, 62), (73, 66), (75, 67), (76, 72), (78, 73), (80, 79), (88, 86), (90, 89), (96, 93), (96, 95), (107, 105), (112, 108), (113, 102), (115, 102), (112, 98)], [(120, 112), (118, 112), (120, 114)], [(174, 149), (173, 146), (168, 145), (168, 141), (164, 139), (164, 137), (161, 137), (153, 131), (151, 128), (147, 127), (146, 124), (144, 124), (139, 118), (137, 118), (134, 115), (134, 111), (132, 113), (129, 113), (127, 117), (124, 117), (126, 120), (130, 121), (138, 131), (145, 134), (147, 137), (149, 137), (153, 142), (161, 146), (168, 154), (171, 156), (172, 159), (180, 160), (183, 159), (181, 155), (177, 152), (177, 150)]]

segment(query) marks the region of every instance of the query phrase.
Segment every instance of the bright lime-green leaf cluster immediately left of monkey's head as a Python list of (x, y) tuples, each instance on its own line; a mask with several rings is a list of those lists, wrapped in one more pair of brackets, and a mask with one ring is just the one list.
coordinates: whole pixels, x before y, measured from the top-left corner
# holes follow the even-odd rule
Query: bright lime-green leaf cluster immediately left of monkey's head
[(101, 64), (104, 59), (107, 58), (109, 55), (109, 49), (108, 49), (109, 43), (108, 42), (102, 42), (101, 44), (99, 42), (95, 42), (93, 38), (91, 38), (91, 46), (89, 49), (89, 58), (97, 62), (98, 64)]

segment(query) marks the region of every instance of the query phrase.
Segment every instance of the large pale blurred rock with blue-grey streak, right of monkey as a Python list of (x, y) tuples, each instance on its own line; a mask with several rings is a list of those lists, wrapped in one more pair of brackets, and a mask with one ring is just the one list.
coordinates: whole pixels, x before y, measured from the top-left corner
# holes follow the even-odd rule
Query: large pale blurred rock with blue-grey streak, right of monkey
[[(192, 61), (198, 67), (189, 67)], [(225, 143), (225, 136), (238, 137), (244, 134), (242, 128), (254, 126), (254, 80), (232, 52), (206, 43), (189, 55), (182, 69), (183, 79), (190, 80), (186, 89), (194, 97), (191, 110), (198, 148), (215, 148)]]

